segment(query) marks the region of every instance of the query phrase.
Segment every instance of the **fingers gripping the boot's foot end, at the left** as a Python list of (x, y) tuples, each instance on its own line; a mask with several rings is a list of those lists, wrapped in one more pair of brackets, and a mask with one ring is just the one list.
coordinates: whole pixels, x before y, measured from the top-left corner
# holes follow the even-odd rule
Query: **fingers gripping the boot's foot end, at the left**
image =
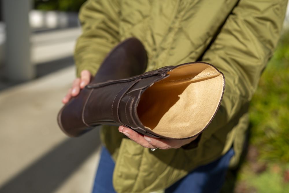
[(72, 97), (79, 94), (80, 89), (83, 89), (91, 79), (91, 73), (88, 70), (83, 70), (80, 73), (80, 78), (76, 78), (73, 81), (71, 89), (68, 90), (66, 96), (62, 99), (62, 102), (67, 103)]

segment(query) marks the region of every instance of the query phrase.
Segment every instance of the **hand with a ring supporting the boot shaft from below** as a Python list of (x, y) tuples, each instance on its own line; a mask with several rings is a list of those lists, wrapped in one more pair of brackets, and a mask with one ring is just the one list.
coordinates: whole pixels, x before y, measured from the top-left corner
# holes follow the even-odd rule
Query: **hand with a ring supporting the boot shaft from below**
[(171, 148), (180, 148), (186, 144), (189, 144), (193, 140), (195, 140), (198, 136), (192, 137), (190, 139), (164, 139), (164, 138), (154, 138), (148, 137), (145, 135), (141, 135), (136, 131), (124, 127), (119, 126), (118, 131), (129, 137), (129, 139), (135, 141), (145, 148), (159, 148), (159, 149), (171, 149)]

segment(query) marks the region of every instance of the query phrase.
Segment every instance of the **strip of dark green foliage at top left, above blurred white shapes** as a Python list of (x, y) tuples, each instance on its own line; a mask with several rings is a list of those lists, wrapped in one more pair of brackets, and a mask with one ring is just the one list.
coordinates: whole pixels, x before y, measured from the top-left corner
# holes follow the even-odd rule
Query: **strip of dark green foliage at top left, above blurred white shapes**
[(34, 0), (34, 8), (38, 10), (59, 10), (77, 12), (86, 0)]

